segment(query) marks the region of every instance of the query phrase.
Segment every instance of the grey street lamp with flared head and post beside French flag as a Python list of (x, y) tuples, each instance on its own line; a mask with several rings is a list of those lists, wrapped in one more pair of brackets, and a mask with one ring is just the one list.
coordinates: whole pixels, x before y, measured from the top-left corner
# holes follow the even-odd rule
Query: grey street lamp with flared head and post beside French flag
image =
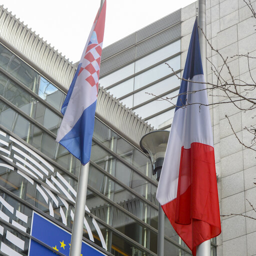
[[(145, 134), (139, 141), (142, 150), (150, 156), (153, 175), (156, 174), (158, 181), (161, 174), (162, 163), (168, 142), (169, 131), (156, 130)], [(158, 236), (157, 256), (163, 256), (164, 249), (164, 212), (159, 203), (158, 207)]]

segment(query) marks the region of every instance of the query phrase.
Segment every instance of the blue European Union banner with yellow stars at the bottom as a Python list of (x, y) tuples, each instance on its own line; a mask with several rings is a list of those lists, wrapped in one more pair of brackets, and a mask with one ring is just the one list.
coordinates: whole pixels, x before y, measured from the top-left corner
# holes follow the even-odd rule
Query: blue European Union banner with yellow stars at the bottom
[[(28, 256), (53, 256), (58, 252), (69, 255), (71, 234), (36, 212), (33, 212), (31, 235), (52, 247), (54, 251), (30, 239)], [(105, 256), (85, 242), (82, 242), (81, 255)]]

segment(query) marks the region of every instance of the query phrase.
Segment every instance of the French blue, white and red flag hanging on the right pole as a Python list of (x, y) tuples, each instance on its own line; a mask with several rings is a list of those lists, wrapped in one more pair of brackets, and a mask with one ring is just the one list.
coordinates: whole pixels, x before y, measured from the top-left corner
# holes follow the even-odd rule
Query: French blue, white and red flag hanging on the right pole
[(196, 20), (183, 78), (189, 81), (182, 80), (180, 85), (156, 198), (195, 255), (197, 245), (221, 232), (212, 130)]

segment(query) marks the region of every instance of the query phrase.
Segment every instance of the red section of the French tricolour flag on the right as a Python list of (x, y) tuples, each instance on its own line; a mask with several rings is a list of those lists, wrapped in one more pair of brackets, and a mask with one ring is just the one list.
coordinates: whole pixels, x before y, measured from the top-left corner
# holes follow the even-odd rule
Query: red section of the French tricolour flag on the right
[(193, 255), (221, 232), (213, 147), (194, 142), (181, 148), (177, 197), (162, 208)]

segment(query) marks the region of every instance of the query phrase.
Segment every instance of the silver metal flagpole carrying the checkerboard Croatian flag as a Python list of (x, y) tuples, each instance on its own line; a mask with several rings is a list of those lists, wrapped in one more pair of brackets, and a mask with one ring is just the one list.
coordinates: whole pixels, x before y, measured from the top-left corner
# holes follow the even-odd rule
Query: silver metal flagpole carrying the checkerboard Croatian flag
[[(104, 0), (100, 0), (99, 13), (103, 6)], [(89, 162), (85, 165), (81, 164), (77, 184), (77, 193), (74, 208), (74, 219), (72, 227), (72, 235), (70, 242), (69, 256), (80, 256), (82, 246), (83, 219), (85, 212), (87, 183), (89, 173)]]

